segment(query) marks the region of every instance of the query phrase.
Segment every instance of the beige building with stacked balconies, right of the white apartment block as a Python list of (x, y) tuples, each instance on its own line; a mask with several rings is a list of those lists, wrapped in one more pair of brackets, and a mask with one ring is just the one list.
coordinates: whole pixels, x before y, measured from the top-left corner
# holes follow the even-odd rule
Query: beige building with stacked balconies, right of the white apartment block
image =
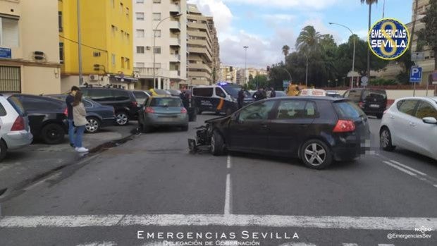
[(187, 4), (187, 35), (189, 85), (215, 83), (220, 59), (214, 20), (203, 16), (195, 4)]

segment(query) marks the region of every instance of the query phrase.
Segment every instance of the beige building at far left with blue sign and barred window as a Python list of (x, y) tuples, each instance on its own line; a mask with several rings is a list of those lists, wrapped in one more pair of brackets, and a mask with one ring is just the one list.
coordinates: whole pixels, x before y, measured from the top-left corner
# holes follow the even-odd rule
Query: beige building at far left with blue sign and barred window
[(57, 8), (51, 0), (0, 0), (0, 92), (61, 92)]

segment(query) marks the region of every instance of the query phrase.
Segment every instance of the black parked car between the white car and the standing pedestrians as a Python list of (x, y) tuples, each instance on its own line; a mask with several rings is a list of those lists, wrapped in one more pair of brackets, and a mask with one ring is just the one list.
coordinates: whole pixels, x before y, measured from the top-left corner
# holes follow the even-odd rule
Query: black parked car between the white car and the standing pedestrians
[(60, 144), (68, 133), (66, 104), (58, 99), (27, 94), (13, 94), (23, 104), (29, 117), (30, 132), (47, 144)]

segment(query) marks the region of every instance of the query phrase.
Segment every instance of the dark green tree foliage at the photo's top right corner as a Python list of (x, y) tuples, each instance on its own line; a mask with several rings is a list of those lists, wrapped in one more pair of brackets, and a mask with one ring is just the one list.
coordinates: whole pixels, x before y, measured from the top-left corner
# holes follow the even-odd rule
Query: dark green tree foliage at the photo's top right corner
[(419, 31), (419, 37), (424, 37), (425, 44), (434, 51), (434, 69), (437, 70), (437, 0), (429, 0), (429, 8), (424, 18), (425, 28)]

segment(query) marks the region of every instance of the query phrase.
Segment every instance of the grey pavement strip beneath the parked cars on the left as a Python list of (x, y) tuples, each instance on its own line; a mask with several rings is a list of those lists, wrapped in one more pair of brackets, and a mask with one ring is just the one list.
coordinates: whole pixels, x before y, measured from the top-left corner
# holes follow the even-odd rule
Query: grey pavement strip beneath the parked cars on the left
[[(85, 134), (83, 145), (92, 152), (102, 144), (133, 135), (136, 128), (136, 121), (123, 127), (102, 128), (99, 133)], [(68, 144), (67, 135), (63, 144), (47, 145), (37, 142), (25, 149), (8, 152), (6, 159), (0, 162), (0, 197), (5, 188), (11, 190), (56, 168), (74, 164), (80, 159), (82, 156)]]

